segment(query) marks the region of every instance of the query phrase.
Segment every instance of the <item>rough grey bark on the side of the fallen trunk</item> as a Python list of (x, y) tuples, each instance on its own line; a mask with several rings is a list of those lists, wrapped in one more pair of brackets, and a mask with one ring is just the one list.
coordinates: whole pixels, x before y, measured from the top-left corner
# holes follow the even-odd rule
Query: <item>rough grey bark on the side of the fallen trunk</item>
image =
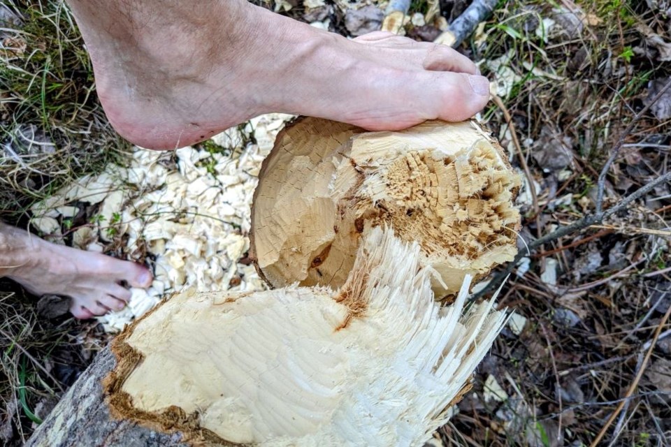
[(165, 434), (116, 420), (103, 396), (101, 380), (117, 364), (109, 346), (96, 356), (28, 440), (27, 447), (187, 447), (181, 434)]

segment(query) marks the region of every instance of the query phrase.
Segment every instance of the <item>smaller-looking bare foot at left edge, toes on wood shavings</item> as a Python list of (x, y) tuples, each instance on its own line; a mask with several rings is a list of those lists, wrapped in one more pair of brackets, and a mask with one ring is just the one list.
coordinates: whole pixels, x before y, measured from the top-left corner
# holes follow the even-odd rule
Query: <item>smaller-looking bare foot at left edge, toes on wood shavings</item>
[(148, 287), (147, 268), (110, 256), (52, 244), (0, 223), (0, 277), (17, 281), (31, 293), (71, 297), (70, 312), (91, 318), (120, 310), (131, 298), (121, 286)]

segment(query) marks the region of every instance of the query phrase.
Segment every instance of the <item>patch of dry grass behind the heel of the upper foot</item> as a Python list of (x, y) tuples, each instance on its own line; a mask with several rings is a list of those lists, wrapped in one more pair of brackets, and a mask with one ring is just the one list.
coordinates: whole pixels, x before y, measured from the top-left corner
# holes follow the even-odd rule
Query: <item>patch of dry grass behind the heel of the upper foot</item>
[(34, 202), (126, 146), (98, 103), (93, 71), (65, 3), (8, 0), (0, 31), (0, 212)]

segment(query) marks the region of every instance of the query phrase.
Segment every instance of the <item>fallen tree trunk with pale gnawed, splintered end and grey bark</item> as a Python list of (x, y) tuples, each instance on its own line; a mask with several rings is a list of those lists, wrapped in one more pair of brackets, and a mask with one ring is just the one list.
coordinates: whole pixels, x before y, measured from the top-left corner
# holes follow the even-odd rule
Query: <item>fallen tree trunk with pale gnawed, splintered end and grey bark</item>
[(422, 256), (372, 228), (339, 291), (176, 295), (115, 339), (118, 364), (103, 353), (30, 445), (421, 445), (505, 320), (493, 300), (464, 312), (470, 277), (436, 303)]

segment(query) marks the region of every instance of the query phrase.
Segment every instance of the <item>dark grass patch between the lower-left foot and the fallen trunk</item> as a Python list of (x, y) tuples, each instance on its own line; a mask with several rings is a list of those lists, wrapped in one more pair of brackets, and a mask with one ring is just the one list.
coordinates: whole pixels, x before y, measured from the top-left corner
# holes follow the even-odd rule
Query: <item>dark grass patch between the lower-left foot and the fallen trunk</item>
[(104, 337), (94, 325), (45, 317), (0, 280), (0, 444), (21, 446), (78, 378)]

